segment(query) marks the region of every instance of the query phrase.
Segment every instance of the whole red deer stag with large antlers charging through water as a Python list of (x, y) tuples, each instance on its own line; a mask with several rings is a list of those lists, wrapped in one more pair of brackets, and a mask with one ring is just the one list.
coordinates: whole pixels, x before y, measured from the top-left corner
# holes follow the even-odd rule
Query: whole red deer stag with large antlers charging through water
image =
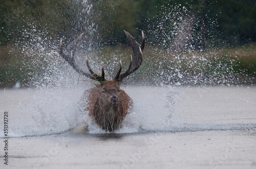
[(97, 75), (89, 66), (88, 59), (86, 58), (86, 64), (90, 73), (81, 70), (75, 63), (74, 53), (76, 46), (81, 40), (83, 34), (81, 34), (76, 40), (71, 42), (67, 51), (70, 55), (63, 52), (62, 39), (60, 39), (59, 54), (64, 58), (78, 73), (97, 80), (100, 85), (95, 88), (91, 88), (84, 92), (83, 97), (86, 98), (89, 110), (89, 116), (92, 116), (95, 122), (105, 131), (114, 131), (121, 127), (123, 118), (127, 115), (129, 108), (132, 106), (132, 99), (120, 89), (122, 79), (129, 76), (136, 71), (142, 63), (142, 51), (145, 45), (145, 38), (142, 32), (142, 44), (140, 45), (135, 38), (124, 31), (126, 34), (134, 53), (134, 59), (131, 55), (131, 62), (129, 68), (122, 72), (122, 63), (120, 61), (120, 68), (114, 78), (114, 80), (106, 80), (104, 77), (103, 63), (101, 62), (101, 75)]

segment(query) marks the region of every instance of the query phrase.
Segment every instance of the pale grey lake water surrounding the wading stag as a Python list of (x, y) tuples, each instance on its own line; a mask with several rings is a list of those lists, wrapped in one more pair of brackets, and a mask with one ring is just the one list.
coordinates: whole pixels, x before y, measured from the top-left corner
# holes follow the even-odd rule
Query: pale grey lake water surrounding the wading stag
[(256, 87), (122, 89), (135, 104), (115, 133), (82, 111), (85, 89), (0, 90), (9, 166), (255, 168)]

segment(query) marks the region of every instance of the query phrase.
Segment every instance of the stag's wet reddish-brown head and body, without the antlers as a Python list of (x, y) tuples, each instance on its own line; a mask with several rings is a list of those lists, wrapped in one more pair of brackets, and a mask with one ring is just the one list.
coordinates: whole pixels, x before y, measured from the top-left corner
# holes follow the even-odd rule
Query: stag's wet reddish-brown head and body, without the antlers
[(86, 109), (89, 116), (92, 116), (103, 130), (108, 131), (119, 128), (133, 104), (132, 99), (120, 90), (116, 81), (106, 81), (99, 88), (91, 88), (84, 92), (84, 97), (89, 103)]

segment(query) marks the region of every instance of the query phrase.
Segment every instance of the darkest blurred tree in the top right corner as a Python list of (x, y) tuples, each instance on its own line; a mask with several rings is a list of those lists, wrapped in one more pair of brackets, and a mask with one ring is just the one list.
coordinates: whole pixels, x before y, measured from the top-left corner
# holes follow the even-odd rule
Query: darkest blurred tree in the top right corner
[(232, 46), (256, 41), (256, 1), (209, 1), (208, 18), (218, 18), (215, 27), (222, 33), (222, 40)]

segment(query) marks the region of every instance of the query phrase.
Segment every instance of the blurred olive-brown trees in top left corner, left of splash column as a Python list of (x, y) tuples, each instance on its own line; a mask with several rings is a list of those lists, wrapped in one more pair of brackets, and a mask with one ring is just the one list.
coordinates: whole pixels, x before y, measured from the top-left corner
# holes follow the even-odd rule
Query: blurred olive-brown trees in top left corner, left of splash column
[(0, 43), (72, 38), (87, 31), (92, 22), (87, 17), (88, 11), (84, 11), (88, 6), (82, 3), (82, 0), (1, 0)]

